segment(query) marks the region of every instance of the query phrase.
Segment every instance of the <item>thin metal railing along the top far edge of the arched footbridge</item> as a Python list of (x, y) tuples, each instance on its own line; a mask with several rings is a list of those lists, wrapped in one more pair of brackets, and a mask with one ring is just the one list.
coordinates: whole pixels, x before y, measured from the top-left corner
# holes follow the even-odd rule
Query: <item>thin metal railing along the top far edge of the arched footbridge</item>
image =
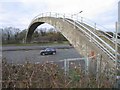
[[(104, 34), (104, 37), (106, 37), (108, 40), (110, 40), (111, 42), (115, 42), (114, 38), (115, 38), (115, 35), (116, 33), (115, 32), (111, 32), (113, 35), (111, 35), (109, 32), (106, 32), (106, 31), (111, 31), (105, 27), (103, 27), (102, 25), (100, 24), (97, 24), (95, 23), (94, 21), (92, 20), (89, 20), (88, 18), (85, 18), (85, 17), (81, 17), (81, 16), (73, 16), (71, 14), (61, 14), (61, 13), (55, 13), (55, 12), (46, 12), (46, 13), (41, 13), (37, 16), (35, 16), (33, 19), (32, 19), (32, 22), (35, 20), (35, 19), (38, 19), (40, 17), (55, 17), (55, 18), (62, 18), (62, 19), (66, 19), (66, 18), (69, 18), (69, 19), (72, 19), (74, 21), (80, 21), (81, 23), (84, 23), (86, 25), (88, 25), (89, 27), (91, 27), (92, 29), (94, 29), (95, 31), (102, 31), (105, 35), (108, 35), (110, 38), (106, 37)], [(120, 38), (120, 35), (117, 35), (118, 38)], [(120, 42), (118, 42), (118, 44), (120, 44)], [(120, 45), (119, 45), (120, 46)]]

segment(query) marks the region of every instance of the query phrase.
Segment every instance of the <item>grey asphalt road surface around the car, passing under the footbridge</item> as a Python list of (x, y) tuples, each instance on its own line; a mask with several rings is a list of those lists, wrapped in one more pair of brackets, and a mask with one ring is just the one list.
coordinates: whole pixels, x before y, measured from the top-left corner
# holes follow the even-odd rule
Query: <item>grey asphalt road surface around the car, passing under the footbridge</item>
[[(16, 47), (14, 47), (16, 48)], [(25, 47), (24, 47), (25, 48)], [(59, 61), (69, 58), (80, 58), (81, 56), (74, 48), (67, 48), (67, 49), (56, 49), (57, 53), (55, 55), (40, 55), (40, 50), (32, 49), (32, 50), (9, 50), (3, 47), (2, 58), (6, 60), (8, 63), (15, 63), (15, 64), (23, 64), (26, 61), (31, 63), (36, 62), (45, 62), (45, 61)]]

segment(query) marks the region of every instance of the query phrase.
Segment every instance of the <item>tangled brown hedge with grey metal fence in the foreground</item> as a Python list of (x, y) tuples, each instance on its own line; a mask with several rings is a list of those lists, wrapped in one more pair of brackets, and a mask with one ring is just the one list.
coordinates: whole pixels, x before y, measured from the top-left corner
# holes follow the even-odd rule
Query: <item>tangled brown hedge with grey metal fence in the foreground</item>
[(44, 63), (2, 62), (2, 88), (112, 88), (114, 69), (102, 57)]

